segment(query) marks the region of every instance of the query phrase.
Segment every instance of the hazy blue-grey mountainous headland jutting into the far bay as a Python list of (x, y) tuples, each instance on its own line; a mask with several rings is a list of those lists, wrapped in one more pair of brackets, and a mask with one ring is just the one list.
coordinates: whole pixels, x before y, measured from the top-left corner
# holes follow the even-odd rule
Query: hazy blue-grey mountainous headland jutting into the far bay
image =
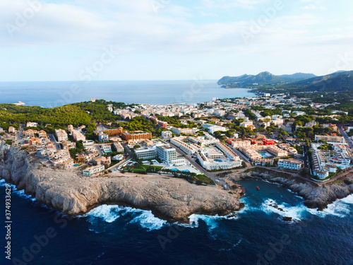
[(301, 81), (312, 77), (315, 77), (313, 73), (294, 73), (292, 75), (275, 76), (265, 71), (256, 76), (247, 74), (242, 76), (224, 76), (218, 81), (218, 84), (225, 86), (260, 86)]

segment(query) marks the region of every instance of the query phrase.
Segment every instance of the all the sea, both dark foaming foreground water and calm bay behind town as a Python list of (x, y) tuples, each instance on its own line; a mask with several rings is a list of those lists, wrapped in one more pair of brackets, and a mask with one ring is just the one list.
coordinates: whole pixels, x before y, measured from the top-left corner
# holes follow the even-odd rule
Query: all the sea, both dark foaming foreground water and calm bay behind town
[[(197, 81), (97, 83), (100, 86), (93, 82), (81, 86), (80, 93), (66, 82), (1, 83), (0, 102), (20, 100), (54, 107), (90, 98), (167, 104), (252, 96), (249, 90), (226, 90), (214, 81), (204, 82), (201, 90)], [(306, 208), (304, 199), (280, 185), (261, 179), (239, 184), (246, 189), (241, 199), (244, 208), (229, 216), (194, 214), (188, 225), (167, 223), (150, 211), (118, 205), (99, 206), (72, 218), (11, 185), (9, 230), (2, 179), (0, 264), (353, 264), (353, 195), (317, 211)], [(11, 239), (6, 240), (6, 235)], [(6, 259), (7, 241), (11, 260)]]

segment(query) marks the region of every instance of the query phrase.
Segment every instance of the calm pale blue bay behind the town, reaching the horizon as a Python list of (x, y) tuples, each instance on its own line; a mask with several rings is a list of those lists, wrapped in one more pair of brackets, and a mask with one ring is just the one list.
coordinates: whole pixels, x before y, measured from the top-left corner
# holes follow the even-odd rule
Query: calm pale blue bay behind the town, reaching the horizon
[(251, 98), (249, 88), (225, 89), (215, 80), (0, 82), (0, 103), (58, 107), (91, 98), (164, 105), (208, 102), (213, 98)]

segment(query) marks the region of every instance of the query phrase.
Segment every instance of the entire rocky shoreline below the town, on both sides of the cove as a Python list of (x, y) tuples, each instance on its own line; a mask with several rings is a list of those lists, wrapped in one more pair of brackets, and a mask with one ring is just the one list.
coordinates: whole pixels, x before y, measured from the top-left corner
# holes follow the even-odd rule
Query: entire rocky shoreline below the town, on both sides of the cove
[[(49, 208), (69, 216), (82, 216), (104, 204), (151, 211), (169, 223), (189, 223), (189, 216), (227, 216), (244, 208), (241, 194), (230, 195), (215, 187), (197, 186), (184, 179), (162, 175), (112, 172), (97, 177), (82, 177), (73, 171), (38, 168), (27, 153), (0, 142), (0, 178), (25, 190), (25, 194)], [(262, 172), (234, 173), (235, 182), (256, 177), (280, 184), (304, 199), (308, 208), (323, 210), (337, 199), (353, 194), (353, 184), (313, 185), (270, 169)], [(353, 176), (345, 176), (353, 183)], [(315, 187), (316, 186), (316, 187)], [(206, 195), (207, 194), (207, 195)], [(206, 199), (205, 199), (206, 197)]]

